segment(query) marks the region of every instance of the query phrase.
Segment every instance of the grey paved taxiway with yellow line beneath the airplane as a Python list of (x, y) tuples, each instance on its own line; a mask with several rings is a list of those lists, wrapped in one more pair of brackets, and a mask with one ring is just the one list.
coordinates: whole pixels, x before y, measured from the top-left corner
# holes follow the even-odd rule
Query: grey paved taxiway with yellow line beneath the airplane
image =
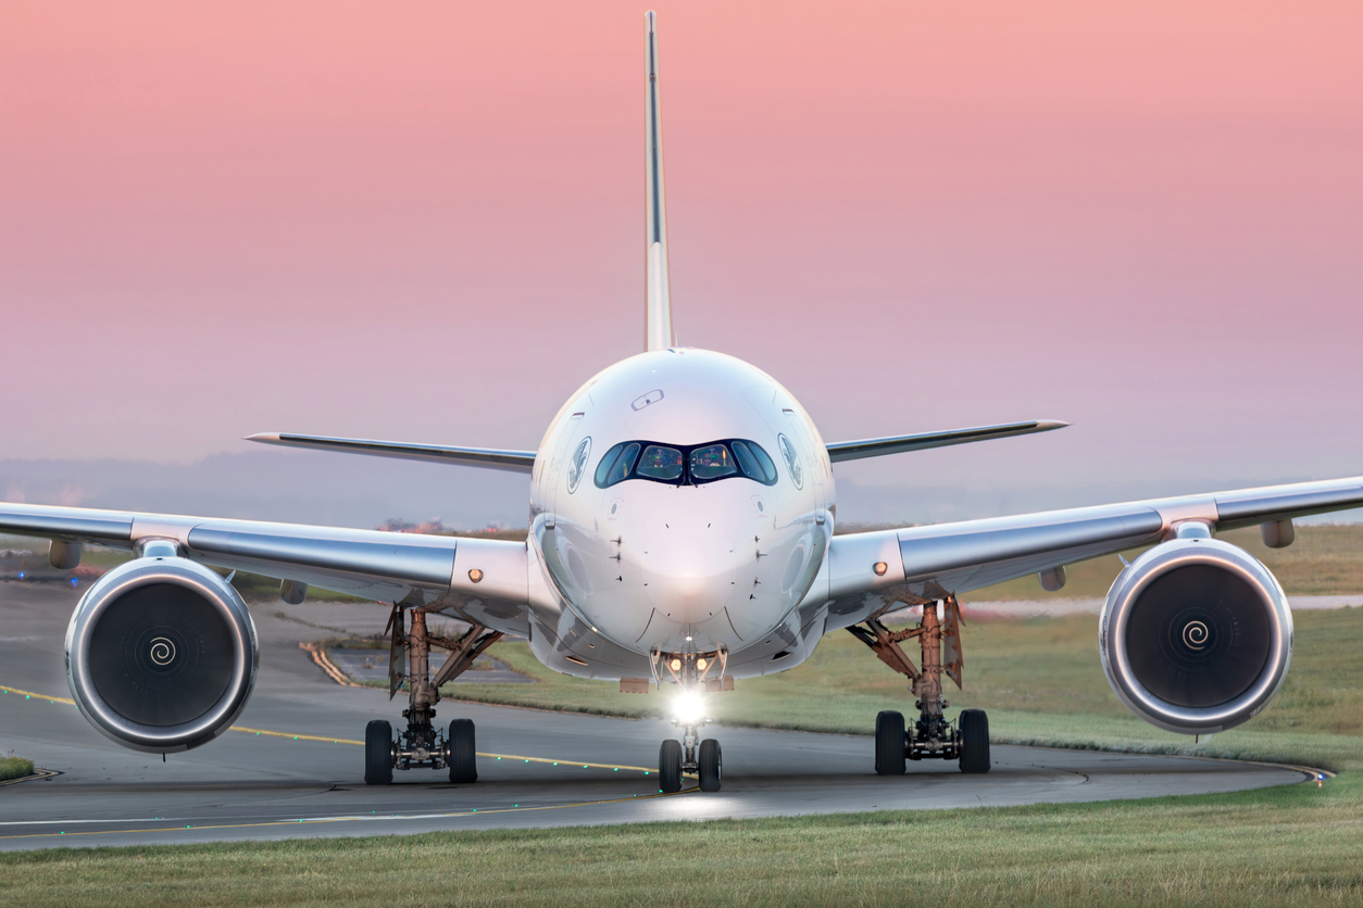
[(0, 685), (42, 694), (0, 694), (0, 754), (60, 773), (0, 787), (0, 849), (1107, 800), (1307, 777), (1255, 764), (1005, 746), (994, 747), (983, 776), (925, 761), (879, 777), (868, 736), (711, 727), (724, 746), (724, 790), (662, 796), (654, 765), (669, 723), (444, 701), (440, 721), (477, 723), (478, 781), (451, 785), (444, 773), (412, 771), (369, 787), (358, 739), (369, 719), (397, 723), (402, 701), (337, 685), (298, 643), (342, 629), (373, 633), (387, 614), (326, 603), (252, 606), (260, 678), (237, 728), (162, 762), (109, 742), (67, 701), (61, 647), (79, 594), (0, 583)]

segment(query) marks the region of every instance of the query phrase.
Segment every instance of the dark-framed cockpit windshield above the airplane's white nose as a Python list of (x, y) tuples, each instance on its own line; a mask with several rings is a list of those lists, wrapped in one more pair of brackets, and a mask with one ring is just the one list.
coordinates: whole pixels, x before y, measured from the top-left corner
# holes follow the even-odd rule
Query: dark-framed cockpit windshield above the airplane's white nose
[(597, 464), (596, 485), (608, 489), (626, 479), (649, 479), (672, 486), (703, 485), (728, 478), (776, 485), (776, 463), (755, 441), (731, 438), (703, 445), (664, 445), (622, 441)]

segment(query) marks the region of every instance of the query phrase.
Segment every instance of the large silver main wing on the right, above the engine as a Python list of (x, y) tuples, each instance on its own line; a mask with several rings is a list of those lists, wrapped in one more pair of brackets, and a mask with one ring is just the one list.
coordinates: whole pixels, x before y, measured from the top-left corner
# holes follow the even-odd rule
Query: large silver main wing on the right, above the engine
[(829, 543), (825, 570), (801, 607), (822, 599), (833, 630), (895, 603), (920, 604), (1154, 543), (1182, 520), (1235, 530), (1358, 506), (1363, 476), (846, 534)]

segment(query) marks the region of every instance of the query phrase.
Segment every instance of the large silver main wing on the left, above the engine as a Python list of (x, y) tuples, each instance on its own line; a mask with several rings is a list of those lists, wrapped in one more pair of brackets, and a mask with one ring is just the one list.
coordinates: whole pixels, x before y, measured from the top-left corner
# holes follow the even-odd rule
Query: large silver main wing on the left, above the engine
[(215, 568), (376, 602), (440, 603), (440, 611), (507, 633), (527, 628), (523, 542), (8, 502), (0, 504), (0, 532), (116, 549), (173, 539), (187, 558)]

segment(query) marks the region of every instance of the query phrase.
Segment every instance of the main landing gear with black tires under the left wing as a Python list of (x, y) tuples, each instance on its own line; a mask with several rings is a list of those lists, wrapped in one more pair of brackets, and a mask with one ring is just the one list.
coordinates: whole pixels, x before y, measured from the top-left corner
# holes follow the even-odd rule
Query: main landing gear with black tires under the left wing
[[(375, 719), (364, 730), (364, 780), (371, 785), (387, 785), (394, 769), (448, 769), (455, 784), (477, 781), (477, 745), (472, 719), (455, 719), (447, 731), (432, 723), (435, 705), (440, 702), (440, 685), (463, 674), (484, 649), (502, 638), (497, 630), (473, 625), (458, 640), (448, 640), (427, 632), (427, 613), (412, 609), (412, 628), (406, 629), (406, 610), (395, 604), (388, 618), (393, 644), (388, 656), (388, 700), (406, 682), (409, 705), (402, 711), (408, 720), (405, 731), (393, 736), (393, 726), (386, 719)], [(448, 649), (440, 671), (431, 677), (431, 647)], [(402, 671), (406, 663), (408, 672)]]

